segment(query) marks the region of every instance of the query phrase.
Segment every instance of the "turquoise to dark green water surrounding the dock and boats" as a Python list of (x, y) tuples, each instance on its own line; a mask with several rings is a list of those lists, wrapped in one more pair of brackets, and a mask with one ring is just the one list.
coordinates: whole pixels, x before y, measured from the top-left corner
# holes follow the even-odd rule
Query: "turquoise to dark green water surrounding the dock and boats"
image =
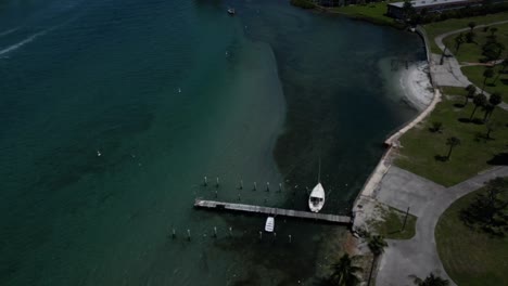
[(278, 218), (259, 240), (264, 217), (192, 203), (304, 209), (321, 157), (347, 212), (416, 114), (379, 63), (421, 44), (285, 1), (0, 2), (0, 284), (314, 283), (344, 227)]

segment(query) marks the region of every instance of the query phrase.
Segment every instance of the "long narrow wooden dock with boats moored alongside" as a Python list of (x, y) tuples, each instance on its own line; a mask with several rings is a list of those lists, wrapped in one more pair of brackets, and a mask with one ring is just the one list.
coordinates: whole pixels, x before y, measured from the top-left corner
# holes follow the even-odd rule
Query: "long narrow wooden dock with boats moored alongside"
[(310, 211), (301, 211), (292, 209), (281, 209), (281, 208), (269, 208), (262, 206), (244, 205), (244, 204), (232, 204), (224, 203), (216, 200), (206, 200), (196, 198), (194, 202), (195, 208), (207, 208), (207, 209), (223, 209), (223, 210), (234, 210), (234, 211), (244, 211), (251, 213), (264, 213), (269, 216), (283, 216), (291, 218), (301, 218), (301, 219), (312, 219), (319, 221), (327, 221), (340, 224), (351, 224), (352, 219), (347, 216), (336, 216), (336, 214), (327, 214), (327, 213), (316, 213)]

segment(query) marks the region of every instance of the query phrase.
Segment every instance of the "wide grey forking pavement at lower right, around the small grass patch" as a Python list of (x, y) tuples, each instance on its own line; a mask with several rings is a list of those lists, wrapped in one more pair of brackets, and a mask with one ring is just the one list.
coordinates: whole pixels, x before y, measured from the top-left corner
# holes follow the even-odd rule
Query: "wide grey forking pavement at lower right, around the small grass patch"
[(378, 199), (418, 217), (416, 235), (391, 240), (382, 256), (376, 285), (412, 285), (409, 275), (426, 277), (430, 272), (450, 281), (437, 255), (434, 230), (441, 214), (459, 197), (478, 190), (496, 177), (508, 177), (508, 167), (496, 167), (452, 187), (444, 187), (392, 166), (381, 182)]

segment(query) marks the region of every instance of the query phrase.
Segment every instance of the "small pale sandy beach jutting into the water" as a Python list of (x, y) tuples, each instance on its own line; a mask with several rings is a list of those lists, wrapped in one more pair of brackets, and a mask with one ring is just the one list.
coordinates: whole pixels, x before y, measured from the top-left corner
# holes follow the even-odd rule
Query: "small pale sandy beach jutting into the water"
[(412, 64), (403, 70), (399, 84), (408, 102), (418, 110), (423, 110), (432, 102), (434, 93), (427, 62)]

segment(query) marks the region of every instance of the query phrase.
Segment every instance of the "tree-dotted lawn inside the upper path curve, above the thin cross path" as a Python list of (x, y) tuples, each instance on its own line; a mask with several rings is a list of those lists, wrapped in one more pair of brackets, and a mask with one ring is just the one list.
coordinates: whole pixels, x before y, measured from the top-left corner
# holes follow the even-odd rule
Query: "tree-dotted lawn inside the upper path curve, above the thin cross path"
[[(492, 27), (498, 29), (494, 34), (496, 36), (497, 41), (508, 48), (508, 24), (495, 25)], [(474, 29), (474, 34), (477, 35), (474, 38), (475, 42), (462, 43), (458, 52), (455, 49), (455, 37), (457, 37), (457, 35), (446, 37), (443, 40), (443, 42), (447, 47), (449, 47), (450, 51), (454, 53), (455, 57), (457, 57), (459, 62), (480, 63), (480, 60), (484, 57), (482, 55), (482, 46), (487, 41), (487, 36), (491, 35), (491, 31), (484, 31), (483, 28), (479, 28)]]

